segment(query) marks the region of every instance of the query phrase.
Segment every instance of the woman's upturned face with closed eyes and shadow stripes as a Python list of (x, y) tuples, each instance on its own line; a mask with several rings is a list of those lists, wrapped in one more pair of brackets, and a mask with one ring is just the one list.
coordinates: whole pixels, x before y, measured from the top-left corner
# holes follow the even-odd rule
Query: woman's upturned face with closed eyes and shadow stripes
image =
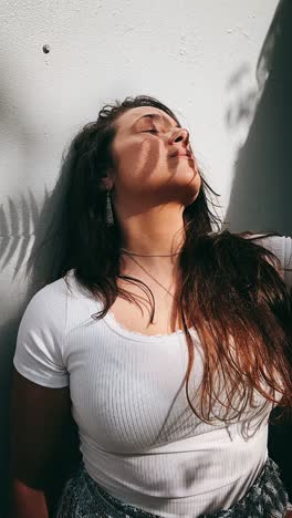
[(139, 106), (121, 115), (112, 147), (115, 201), (138, 207), (194, 201), (201, 185), (195, 157), (169, 156), (189, 149), (188, 136), (159, 108)]

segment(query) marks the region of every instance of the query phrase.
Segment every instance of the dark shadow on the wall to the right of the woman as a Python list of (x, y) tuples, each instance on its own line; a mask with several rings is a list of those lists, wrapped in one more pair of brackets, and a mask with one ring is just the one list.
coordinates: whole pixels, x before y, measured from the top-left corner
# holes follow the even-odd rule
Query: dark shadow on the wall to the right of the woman
[[(292, 2), (282, 0), (258, 64), (261, 96), (234, 166), (226, 220), (231, 231), (278, 231), (292, 236)], [(251, 113), (239, 106), (238, 120)], [(228, 113), (227, 120), (230, 120)], [(234, 122), (234, 117), (232, 120)], [(274, 410), (277, 412), (277, 408)], [(279, 464), (292, 500), (292, 423), (270, 425), (269, 453)]]

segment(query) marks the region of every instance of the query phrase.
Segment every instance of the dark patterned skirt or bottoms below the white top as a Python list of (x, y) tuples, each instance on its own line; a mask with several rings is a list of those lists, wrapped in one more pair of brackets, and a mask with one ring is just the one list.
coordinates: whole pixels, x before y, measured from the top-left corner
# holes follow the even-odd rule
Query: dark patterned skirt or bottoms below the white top
[[(279, 466), (268, 457), (261, 474), (247, 495), (229, 509), (198, 518), (283, 518), (288, 493)], [(196, 512), (194, 510), (194, 517)], [(85, 470), (83, 463), (64, 486), (55, 518), (161, 518), (108, 495)]]

